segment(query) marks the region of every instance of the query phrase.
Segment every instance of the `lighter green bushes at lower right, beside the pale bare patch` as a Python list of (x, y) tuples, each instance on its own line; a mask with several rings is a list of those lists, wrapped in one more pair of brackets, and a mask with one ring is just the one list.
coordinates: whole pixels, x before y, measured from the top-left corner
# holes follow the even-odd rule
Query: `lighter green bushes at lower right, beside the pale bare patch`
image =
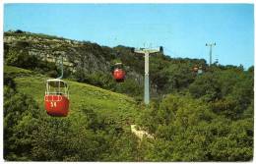
[(156, 135), (154, 141), (147, 140), (143, 143), (147, 150), (143, 152), (143, 160), (252, 160), (252, 116), (232, 120), (216, 114), (203, 99), (168, 95), (159, 108), (149, 109), (142, 116), (141, 125)]

